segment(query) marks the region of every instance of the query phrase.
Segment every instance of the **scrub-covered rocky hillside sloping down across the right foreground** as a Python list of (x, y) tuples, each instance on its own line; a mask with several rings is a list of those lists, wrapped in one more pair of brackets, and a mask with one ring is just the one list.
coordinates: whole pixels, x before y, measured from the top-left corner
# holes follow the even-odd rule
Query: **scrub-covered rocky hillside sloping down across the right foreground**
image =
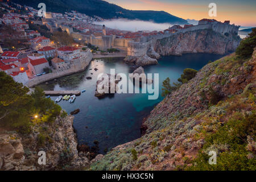
[[(235, 152), (229, 149), (233, 140), (228, 138), (228, 142), (220, 143), (226, 135), (233, 136), (232, 132), (237, 130), (236, 127), (231, 129), (234, 124), (229, 123), (235, 119), (234, 123), (239, 123), (246, 118), (244, 121), (251, 125), (248, 131), (255, 131), (255, 81), (256, 51), (250, 60), (237, 59), (233, 54), (205, 65), (192, 80), (181, 85), (151, 111), (144, 122), (146, 134), (113, 148), (104, 158), (93, 163), (91, 169), (180, 169), (191, 166), (200, 150), (206, 156), (209, 150), (217, 151), (218, 156), (226, 155), (223, 160), (229, 160), (233, 157), (230, 153)], [(205, 140), (211, 134), (216, 137), (214, 133), (225, 129), (222, 126), (228, 130), (221, 135), (219, 142)], [(253, 163), (256, 159), (255, 136), (244, 133), (242, 141), (239, 147), (244, 153), (239, 151), (234, 156), (239, 156), (235, 157), (236, 160)], [(207, 142), (210, 146), (205, 148)], [(232, 159), (228, 164), (233, 162)], [(236, 169), (238, 165), (225, 168), (228, 164), (220, 165), (221, 169)], [(246, 167), (242, 165), (241, 168)]]

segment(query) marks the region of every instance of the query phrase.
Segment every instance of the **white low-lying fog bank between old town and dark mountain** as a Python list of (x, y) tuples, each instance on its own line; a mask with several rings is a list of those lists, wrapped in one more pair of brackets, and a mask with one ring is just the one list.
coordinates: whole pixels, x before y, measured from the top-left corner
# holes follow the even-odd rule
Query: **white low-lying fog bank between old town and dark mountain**
[(127, 31), (163, 31), (172, 26), (170, 23), (154, 23), (142, 20), (113, 19), (94, 24), (105, 24), (106, 27)]

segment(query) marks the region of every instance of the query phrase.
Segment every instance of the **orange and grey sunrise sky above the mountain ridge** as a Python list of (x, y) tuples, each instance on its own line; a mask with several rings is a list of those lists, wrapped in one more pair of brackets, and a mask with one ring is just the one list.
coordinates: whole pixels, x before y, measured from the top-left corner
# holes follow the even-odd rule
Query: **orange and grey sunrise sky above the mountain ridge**
[(166, 11), (183, 19), (210, 18), (208, 5), (217, 5), (217, 20), (230, 20), (230, 23), (241, 26), (256, 26), (255, 0), (105, 0), (129, 10)]

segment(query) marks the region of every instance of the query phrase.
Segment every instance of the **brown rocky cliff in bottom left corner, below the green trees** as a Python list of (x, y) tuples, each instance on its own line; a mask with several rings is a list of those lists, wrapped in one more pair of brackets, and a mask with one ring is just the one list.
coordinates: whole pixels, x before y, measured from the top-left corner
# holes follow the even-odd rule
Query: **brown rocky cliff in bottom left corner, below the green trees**
[[(0, 132), (0, 170), (80, 169), (88, 158), (77, 152), (73, 116), (35, 126), (29, 135)], [(44, 141), (45, 140), (45, 141)], [(38, 164), (38, 152), (46, 152), (46, 165)]]

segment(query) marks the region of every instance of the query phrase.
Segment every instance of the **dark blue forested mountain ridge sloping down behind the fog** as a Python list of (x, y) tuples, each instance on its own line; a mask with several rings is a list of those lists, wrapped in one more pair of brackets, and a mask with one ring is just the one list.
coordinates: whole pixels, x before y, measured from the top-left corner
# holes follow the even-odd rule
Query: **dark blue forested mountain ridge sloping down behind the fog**
[(32, 6), (38, 9), (38, 4), (46, 4), (46, 11), (64, 13), (65, 11), (75, 10), (89, 16), (97, 15), (101, 18), (127, 18), (153, 21), (155, 23), (186, 24), (187, 20), (171, 15), (165, 11), (143, 11), (127, 10), (112, 3), (101, 0), (13, 0), (11, 2), (20, 5)]

